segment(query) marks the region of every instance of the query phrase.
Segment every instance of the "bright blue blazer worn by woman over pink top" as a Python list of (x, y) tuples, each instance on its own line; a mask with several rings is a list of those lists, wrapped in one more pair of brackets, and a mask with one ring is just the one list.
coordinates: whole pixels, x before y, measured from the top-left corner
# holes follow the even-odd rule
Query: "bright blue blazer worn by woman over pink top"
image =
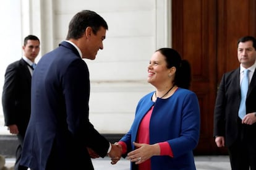
[[(151, 101), (154, 91), (144, 96), (137, 105), (135, 119), (129, 132), (121, 138), (127, 152), (134, 150), (140, 121), (154, 106), (150, 119), (150, 144), (168, 142), (173, 150), (170, 156), (152, 156), (151, 170), (195, 169), (192, 150), (197, 146), (200, 134), (200, 110), (197, 96), (192, 91), (178, 88), (167, 99)], [(126, 156), (126, 155), (124, 155)], [(132, 163), (131, 169), (137, 169)]]

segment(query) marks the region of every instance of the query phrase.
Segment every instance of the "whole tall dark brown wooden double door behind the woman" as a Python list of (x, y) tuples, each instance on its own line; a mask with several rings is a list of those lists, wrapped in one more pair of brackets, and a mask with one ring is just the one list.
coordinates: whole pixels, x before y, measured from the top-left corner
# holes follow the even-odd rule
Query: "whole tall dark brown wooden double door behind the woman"
[(173, 48), (192, 67), (192, 86), (201, 111), (201, 131), (195, 154), (226, 154), (213, 138), (213, 112), (224, 72), (239, 66), (236, 41), (256, 35), (254, 0), (173, 0)]

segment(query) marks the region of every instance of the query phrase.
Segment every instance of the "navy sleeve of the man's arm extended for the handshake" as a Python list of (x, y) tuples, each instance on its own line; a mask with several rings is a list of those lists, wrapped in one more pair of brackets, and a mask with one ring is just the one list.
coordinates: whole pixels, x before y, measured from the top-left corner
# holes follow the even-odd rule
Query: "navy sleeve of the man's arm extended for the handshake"
[(72, 62), (62, 82), (69, 131), (98, 155), (106, 156), (109, 142), (89, 121), (90, 80), (85, 62), (82, 59)]

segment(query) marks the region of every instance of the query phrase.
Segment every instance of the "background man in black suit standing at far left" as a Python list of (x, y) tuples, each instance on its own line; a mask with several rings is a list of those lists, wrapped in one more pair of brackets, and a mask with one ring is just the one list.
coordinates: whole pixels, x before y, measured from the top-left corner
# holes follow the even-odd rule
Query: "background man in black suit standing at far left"
[(23, 56), (19, 61), (10, 64), (6, 69), (2, 91), (2, 108), (5, 125), (11, 134), (18, 137), (15, 169), (27, 169), (19, 166), (22, 145), (30, 119), (32, 64), (40, 51), (40, 41), (34, 35), (28, 35), (22, 46)]

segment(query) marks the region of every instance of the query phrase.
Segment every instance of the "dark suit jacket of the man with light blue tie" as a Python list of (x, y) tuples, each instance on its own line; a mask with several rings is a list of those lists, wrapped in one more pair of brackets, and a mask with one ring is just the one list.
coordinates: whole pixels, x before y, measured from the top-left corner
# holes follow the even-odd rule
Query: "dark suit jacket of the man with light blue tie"
[[(256, 124), (241, 125), (241, 119), (238, 117), (241, 100), (239, 75), (240, 69), (224, 74), (216, 97), (213, 135), (224, 136), (226, 147), (237, 139), (241, 127), (243, 136), (251, 142), (256, 142)], [(256, 71), (249, 85), (245, 105), (246, 113), (256, 111)]]

